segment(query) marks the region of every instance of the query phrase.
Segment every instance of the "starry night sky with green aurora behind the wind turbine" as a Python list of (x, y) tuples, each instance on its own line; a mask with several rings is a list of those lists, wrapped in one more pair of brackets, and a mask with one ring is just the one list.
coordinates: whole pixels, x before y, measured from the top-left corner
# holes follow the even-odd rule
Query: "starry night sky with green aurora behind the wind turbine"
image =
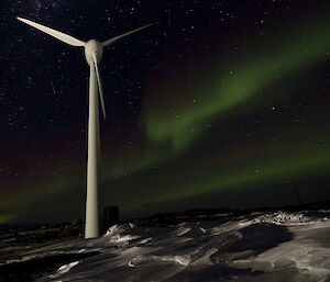
[(15, 20), (106, 41), (102, 205), (121, 217), (330, 199), (328, 1), (4, 0), (0, 224), (85, 218), (89, 67)]

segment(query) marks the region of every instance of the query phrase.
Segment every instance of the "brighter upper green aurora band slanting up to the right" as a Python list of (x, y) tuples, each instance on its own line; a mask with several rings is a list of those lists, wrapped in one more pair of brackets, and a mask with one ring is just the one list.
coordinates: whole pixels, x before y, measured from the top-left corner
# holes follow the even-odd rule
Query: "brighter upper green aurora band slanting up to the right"
[[(290, 34), (283, 31), (280, 36), (267, 38), (261, 46), (255, 46), (253, 53), (244, 53), (245, 61), (227, 63), (224, 67), (209, 66), (212, 75), (207, 74), (200, 83), (190, 87), (189, 92), (184, 88), (188, 82), (179, 81), (172, 88), (164, 87), (160, 90), (161, 93), (151, 93), (150, 97), (167, 97), (170, 93), (168, 99), (179, 98), (180, 105), (177, 105), (177, 99), (173, 99), (172, 105), (164, 105), (158, 100), (152, 100), (155, 102), (151, 104), (145, 99), (142, 111), (143, 131), (146, 134), (147, 148), (155, 154), (139, 156), (129, 166), (117, 165), (109, 177), (121, 177), (175, 158), (186, 153), (195, 140), (205, 135), (205, 124), (226, 121), (228, 116), (239, 115), (242, 111), (253, 111), (256, 105), (264, 108), (257, 97), (260, 89), (280, 83), (283, 79), (295, 75), (295, 71), (329, 59), (330, 38), (324, 36), (327, 26), (329, 21), (320, 19), (314, 26), (295, 26)], [(275, 44), (285, 40), (287, 42), (280, 46)], [(230, 57), (235, 56), (237, 54), (232, 54)], [(222, 66), (223, 59), (218, 57), (215, 60)], [(186, 75), (187, 77), (193, 76), (197, 69), (188, 71), (191, 74)], [(180, 91), (183, 89), (185, 92)], [(191, 102), (195, 98), (199, 98), (198, 103)], [(280, 95), (272, 98), (288, 99), (285, 90)]]

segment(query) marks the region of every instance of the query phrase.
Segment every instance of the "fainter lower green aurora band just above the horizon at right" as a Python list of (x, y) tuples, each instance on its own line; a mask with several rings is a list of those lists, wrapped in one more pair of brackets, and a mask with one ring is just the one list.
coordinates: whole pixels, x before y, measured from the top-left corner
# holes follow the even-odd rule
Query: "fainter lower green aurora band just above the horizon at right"
[[(279, 142), (261, 138), (257, 144), (232, 154), (221, 155), (221, 150), (217, 150), (216, 155), (215, 151), (197, 151), (188, 160), (183, 157), (172, 171), (179, 174), (180, 179), (167, 182), (158, 180), (157, 190), (148, 193), (130, 191), (134, 201), (123, 202), (122, 206), (134, 211), (142, 204), (177, 201), (221, 189), (249, 184), (279, 185), (310, 176), (327, 174), (330, 169), (330, 149), (324, 143), (330, 140), (330, 134), (324, 134), (323, 128), (316, 129), (309, 125), (300, 126), (299, 129), (298, 138), (295, 139), (292, 139), (289, 133), (283, 133)], [(322, 136), (322, 142), (312, 136)], [(283, 143), (286, 145), (283, 146)], [(189, 166), (185, 166), (187, 161)]]

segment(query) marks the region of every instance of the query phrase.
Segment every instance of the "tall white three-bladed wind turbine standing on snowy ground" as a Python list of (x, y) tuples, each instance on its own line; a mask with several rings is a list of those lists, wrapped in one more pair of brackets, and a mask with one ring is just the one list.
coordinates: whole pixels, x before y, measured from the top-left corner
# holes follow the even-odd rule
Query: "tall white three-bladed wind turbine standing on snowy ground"
[(99, 202), (98, 202), (98, 182), (99, 182), (99, 143), (100, 143), (100, 129), (99, 129), (99, 101), (98, 92), (100, 95), (101, 108), (105, 120), (106, 108), (103, 99), (103, 90), (101, 83), (101, 76), (99, 72), (98, 64), (100, 63), (103, 54), (103, 47), (111, 45), (118, 40), (123, 38), (132, 33), (139, 32), (151, 24), (144, 25), (136, 30), (130, 31), (122, 35), (112, 37), (102, 43), (90, 40), (88, 42), (79, 41), (70, 35), (46, 27), (38, 23), (16, 18), (19, 21), (26, 23), (44, 33), (52, 35), (53, 37), (77, 47), (85, 47), (85, 57), (87, 64), (90, 67), (89, 76), (89, 115), (88, 115), (88, 160), (87, 160), (87, 199), (86, 199), (86, 227), (85, 238), (96, 238), (100, 235), (99, 228)]

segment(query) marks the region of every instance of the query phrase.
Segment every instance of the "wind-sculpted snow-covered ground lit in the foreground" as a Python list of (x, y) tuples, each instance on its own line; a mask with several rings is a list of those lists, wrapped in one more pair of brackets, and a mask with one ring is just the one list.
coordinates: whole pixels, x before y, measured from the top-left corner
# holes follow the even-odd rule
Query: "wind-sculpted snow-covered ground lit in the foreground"
[[(112, 226), (98, 239), (25, 253), (23, 260), (94, 253), (38, 281), (330, 281), (329, 211), (274, 212), (164, 227)], [(8, 261), (8, 263), (12, 263)]]

